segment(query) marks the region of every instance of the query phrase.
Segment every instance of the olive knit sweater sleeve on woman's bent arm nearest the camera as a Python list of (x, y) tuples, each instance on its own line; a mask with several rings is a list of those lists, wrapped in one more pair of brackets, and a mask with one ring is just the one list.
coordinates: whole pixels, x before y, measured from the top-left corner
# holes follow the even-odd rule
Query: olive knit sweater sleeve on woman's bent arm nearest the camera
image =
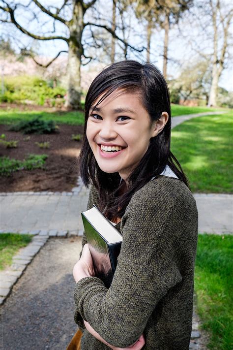
[(83, 278), (75, 286), (82, 318), (116, 347), (139, 339), (157, 303), (182, 279), (175, 259), (175, 198), (159, 194), (142, 189), (127, 206), (110, 288), (96, 277)]

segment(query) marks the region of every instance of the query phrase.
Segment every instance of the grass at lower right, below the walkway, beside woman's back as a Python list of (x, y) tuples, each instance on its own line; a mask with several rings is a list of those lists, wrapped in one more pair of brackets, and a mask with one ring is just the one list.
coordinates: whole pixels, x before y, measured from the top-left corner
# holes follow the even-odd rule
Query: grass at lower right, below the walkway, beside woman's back
[(198, 237), (197, 312), (211, 337), (208, 349), (233, 349), (233, 236)]

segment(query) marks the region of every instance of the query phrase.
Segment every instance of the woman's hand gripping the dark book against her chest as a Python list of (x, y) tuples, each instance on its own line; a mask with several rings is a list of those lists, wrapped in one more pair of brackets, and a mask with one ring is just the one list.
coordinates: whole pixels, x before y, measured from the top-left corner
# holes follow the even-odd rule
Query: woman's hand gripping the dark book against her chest
[(90, 255), (88, 244), (85, 244), (83, 247), (81, 258), (74, 265), (73, 276), (74, 276), (75, 282), (77, 283), (84, 277), (90, 277), (94, 275), (95, 275), (95, 272), (94, 272), (92, 257)]

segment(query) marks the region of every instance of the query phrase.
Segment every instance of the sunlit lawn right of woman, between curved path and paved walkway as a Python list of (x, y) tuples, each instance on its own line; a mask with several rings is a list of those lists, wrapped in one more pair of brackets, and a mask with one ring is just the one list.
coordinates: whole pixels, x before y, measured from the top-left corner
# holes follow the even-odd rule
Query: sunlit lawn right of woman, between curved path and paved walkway
[(198, 117), (172, 130), (172, 152), (194, 192), (233, 192), (233, 115)]

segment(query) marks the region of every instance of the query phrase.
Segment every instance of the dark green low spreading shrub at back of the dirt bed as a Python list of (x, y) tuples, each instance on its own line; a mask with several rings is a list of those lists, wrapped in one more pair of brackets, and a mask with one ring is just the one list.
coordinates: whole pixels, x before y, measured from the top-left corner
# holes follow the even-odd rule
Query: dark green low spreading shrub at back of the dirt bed
[(57, 131), (53, 120), (43, 120), (37, 116), (31, 120), (22, 120), (10, 127), (12, 131), (22, 131), (24, 134), (50, 134)]

